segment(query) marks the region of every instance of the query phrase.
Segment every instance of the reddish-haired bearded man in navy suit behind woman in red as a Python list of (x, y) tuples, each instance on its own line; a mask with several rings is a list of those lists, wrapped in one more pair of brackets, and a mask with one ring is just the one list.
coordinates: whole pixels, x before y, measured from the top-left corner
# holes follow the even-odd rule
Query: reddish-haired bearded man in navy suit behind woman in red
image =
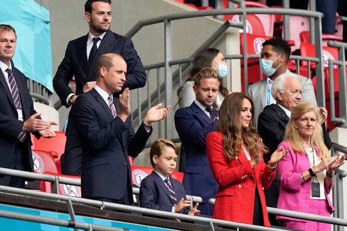
[(183, 186), (188, 195), (200, 196), (203, 202), (201, 214), (212, 216), (213, 207), (208, 199), (215, 198), (218, 184), (215, 181), (207, 160), (205, 138), (217, 125), (218, 111), (212, 110), (220, 79), (215, 69), (207, 67), (194, 77), (196, 99), (186, 108), (175, 113), (176, 131), (186, 151), (187, 166)]

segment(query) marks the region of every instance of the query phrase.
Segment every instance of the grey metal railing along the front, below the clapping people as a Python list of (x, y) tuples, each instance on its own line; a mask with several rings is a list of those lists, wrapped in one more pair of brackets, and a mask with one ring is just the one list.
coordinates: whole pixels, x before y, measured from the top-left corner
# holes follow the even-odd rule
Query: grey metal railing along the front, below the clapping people
[[(333, 155), (336, 154), (335, 153), (336, 151), (347, 153), (347, 148), (344, 146), (338, 145), (336, 143), (333, 143), (333, 147), (332, 147)], [(299, 213), (299, 212), (293, 212), (293, 211), (282, 210), (282, 209), (275, 209), (275, 208), (270, 208), (270, 207), (267, 207), (268, 213), (274, 214), (274, 215), (292, 217), (292, 218), (299, 218), (299, 219), (304, 219), (304, 220), (330, 223), (330, 224), (335, 225), (334, 227), (336, 227), (336, 229), (334, 229), (334, 230), (343, 230), (343, 229), (341, 229), (343, 227), (340, 227), (340, 226), (341, 225), (347, 226), (347, 220), (342, 219), (343, 218), (343, 206), (341, 207), (341, 206), (339, 206), (339, 204), (343, 204), (342, 177), (345, 177), (347, 174), (346, 174), (346, 172), (341, 171), (339, 169), (336, 169), (335, 172), (336, 172), (336, 176), (340, 176), (340, 177), (336, 177), (336, 183), (334, 185), (334, 190), (333, 190), (333, 192), (334, 192), (333, 193), (333, 202), (334, 202), (335, 208), (337, 208), (336, 209), (336, 211), (337, 211), (336, 216), (339, 218), (319, 216), (319, 215), (313, 215), (313, 214), (308, 214), (308, 213)], [(81, 203), (81, 204), (88, 204), (91, 206), (97, 206), (97, 207), (100, 207), (103, 209), (104, 208), (119, 209), (119, 210), (126, 210), (126, 211), (130, 211), (130, 212), (138, 212), (138, 213), (145, 213), (145, 214), (151, 214), (151, 215), (158, 215), (161, 217), (179, 218), (179, 219), (191, 220), (191, 221), (201, 221), (201, 222), (206, 222), (209, 224), (212, 223), (212, 227), (213, 227), (213, 223), (214, 223), (214, 224), (218, 224), (218, 225), (226, 225), (226, 226), (231, 226), (231, 227), (251, 228), (252, 230), (277, 230), (277, 229), (273, 229), (273, 228), (268, 229), (267, 227), (241, 224), (241, 223), (237, 223), (237, 222), (221, 221), (221, 220), (209, 219), (209, 218), (203, 218), (203, 217), (197, 218), (194, 216), (187, 216), (187, 215), (163, 212), (163, 211), (158, 211), (158, 210), (149, 210), (149, 209), (138, 208), (138, 207), (134, 207), (134, 206), (125, 206), (122, 204), (115, 204), (115, 203), (85, 199), (85, 198), (80, 198), (80, 197), (59, 195), (59, 190), (58, 190), (59, 184), (70, 184), (70, 185), (75, 185), (75, 186), (81, 186), (80, 179), (72, 179), (72, 178), (63, 177), (63, 176), (46, 175), (46, 174), (19, 171), (19, 170), (7, 169), (7, 168), (0, 168), (0, 174), (38, 179), (40, 181), (51, 182), (51, 183), (53, 183), (53, 185), (55, 184), (56, 188), (57, 188), (57, 191), (56, 191), (57, 194), (45, 193), (45, 192), (36, 192), (36, 191), (31, 191), (31, 190), (26, 190), (26, 189), (17, 189), (17, 188), (6, 187), (6, 186), (0, 186), (0, 192), (15, 193), (15, 194), (20, 194), (20, 195), (35, 196), (35, 197), (40, 197), (40, 198), (49, 198), (49, 199), (57, 199), (57, 200), (66, 201), (72, 222), (75, 222), (76, 215), (75, 215), (75, 212), (73, 211), (71, 201), (76, 202), (76, 203)], [(133, 193), (138, 194), (139, 189), (133, 188)], [(191, 206), (193, 206), (193, 203), (202, 201), (201, 197), (189, 196), (189, 195), (187, 195), (187, 199), (190, 199)], [(209, 203), (212, 205), (214, 205), (214, 201), (215, 201), (214, 198), (209, 199)], [(0, 217), (2, 217), (2, 216), (5, 216), (5, 215), (2, 212), (0, 212)], [(17, 219), (15, 214), (11, 214), (8, 216), (11, 216), (10, 218), (12, 218), (12, 219)], [(32, 216), (29, 217), (30, 221), (33, 221), (33, 222), (40, 222), (41, 221), (41, 218), (37, 221), (34, 221), (35, 217), (32, 217)], [(24, 218), (25, 218), (24, 214), (19, 214), (18, 219), (22, 220)], [(47, 220), (46, 222), (55, 222), (56, 221), (54, 218), (52, 218), (52, 219), (53, 220), (48, 219), (49, 221)], [(44, 223), (44, 222), (42, 222), (42, 223)], [(48, 223), (48, 224), (53, 224), (53, 223)], [(56, 224), (56, 225), (62, 225), (63, 226), (64, 224), (65, 224), (65, 222), (60, 222), (59, 224)], [(71, 223), (69, 223), (69, 224), (71, 225)], [(79, 223), (77, 223), (77, 225), (81, 229), (86, 227), (84, 225), (80, 226), (81, 224), (79, 224)], [(73, 227), (73, 226), (69, 226), (69, 227)], [(95, 230), (99, 230), (99, 229), (95, 229)]]

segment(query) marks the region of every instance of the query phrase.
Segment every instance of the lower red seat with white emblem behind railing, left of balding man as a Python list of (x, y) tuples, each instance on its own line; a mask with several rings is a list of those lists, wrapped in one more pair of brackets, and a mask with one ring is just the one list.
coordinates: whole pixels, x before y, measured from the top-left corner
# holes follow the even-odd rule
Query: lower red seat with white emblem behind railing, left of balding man
[[(74, 178), (74, 179), (81, 179), (81, 176), (62, 175), (62, 174), (57, 174), (54, 172), (45, 172), (44, 174), (55, 175), (55, 176), (64, 176), (64, 177), (69, 177), (69, 178)], [(52, 193), (51, 182), (44, 182), (44, 192)], [(73, 185), (66, 185), (66, 184), (59, 184), (59, 194), (65, 195), (65, 196), (81, 197), (81, 187), (80, 186), (73, 186)]]

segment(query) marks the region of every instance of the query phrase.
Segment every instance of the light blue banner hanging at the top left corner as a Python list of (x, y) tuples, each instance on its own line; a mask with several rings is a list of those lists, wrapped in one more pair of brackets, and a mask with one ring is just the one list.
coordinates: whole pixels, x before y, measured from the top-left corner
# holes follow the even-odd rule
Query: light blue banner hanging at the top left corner
[(1, 0), (0, 9), (0, 24), (16, 30), (15, 67), (53, 92), (49, 11), (34, 0)]

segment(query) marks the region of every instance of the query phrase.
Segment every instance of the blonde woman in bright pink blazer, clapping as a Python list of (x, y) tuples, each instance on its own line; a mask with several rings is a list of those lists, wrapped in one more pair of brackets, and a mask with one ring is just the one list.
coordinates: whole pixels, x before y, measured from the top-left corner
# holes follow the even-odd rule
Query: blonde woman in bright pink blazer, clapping
[[(290, 147), (279, 162), (281, 191), (277, 208), (330, 216), (334, 207), (328, 194), (333, 187), (334, 169), (343, 164), (344, 155), (330, 157), (324, 144), (318, 108), (302, 102), (291, 112), (282, 148)], [(312, 189), (311, 189), (312, 188)], [(331, 225), (283, 216), (276, 217), (285, 227), (300, 230), (330, 230)]]

